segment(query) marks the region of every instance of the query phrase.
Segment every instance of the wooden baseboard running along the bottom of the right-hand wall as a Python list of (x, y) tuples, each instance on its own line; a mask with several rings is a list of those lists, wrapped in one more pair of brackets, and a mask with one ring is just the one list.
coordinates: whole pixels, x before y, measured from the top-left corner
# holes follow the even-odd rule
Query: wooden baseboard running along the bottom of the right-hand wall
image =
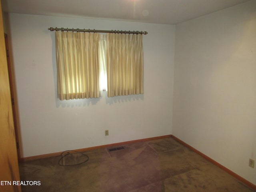
[(182, 145), (190, 148), (192, 151), (194, 151), (195, 153), (197, 153), (198, 155), (202, 156), (203, 158), (205, 158), (206, 160), (210, 161), (212, 164), (218, 166), (219, 168), (221, 168), (222, 170), (226, 171), (227, 173), (229, 173), (230, 175), (234, 176), (236, 179), (240, 180), (241, 182), (243, 182), (244, 184), (246, 184), (247, 186), (249, 186), (250, 188), (252, 188), (253, 190), (256, 190), (256, 185), (254, 185), (253, 183), (249, 182), (248, 180), (242, 178), (241, 176), (239, 176), (238, 174), (232, 172), (231, 170), (229, 170), (228, 168), (224, 167), (222, 164), (219, 164), (218, 162), (214, 161), (212, 158), (206, 156), (205, 154), (203, 154), (202, 152), (196, 150), (195, 148), (193, 148), (192, 146), (190, 146), (189, 144), (186, 144), (185, 142), (183, 142), (182, 140), (180, 140), (179, 138), (171, 135), (172, 138), (174, 138), (176, 141), (178, 141), (179, 143), (181, 143)]

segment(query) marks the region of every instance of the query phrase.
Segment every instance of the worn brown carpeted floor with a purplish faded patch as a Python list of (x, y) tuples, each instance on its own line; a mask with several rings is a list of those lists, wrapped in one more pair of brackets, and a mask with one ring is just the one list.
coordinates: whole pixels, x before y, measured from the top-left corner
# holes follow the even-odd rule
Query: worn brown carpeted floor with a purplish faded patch
[[(253, 192), (173, 138), (123, 147), (86, 151), (89, 160), (76, 166), (59, 166), (60, 156), (22, 162), (21, 180), (41, 184), (22, 186), (22, 192)], [(70, 154), (60, 163), (84, 160)]]

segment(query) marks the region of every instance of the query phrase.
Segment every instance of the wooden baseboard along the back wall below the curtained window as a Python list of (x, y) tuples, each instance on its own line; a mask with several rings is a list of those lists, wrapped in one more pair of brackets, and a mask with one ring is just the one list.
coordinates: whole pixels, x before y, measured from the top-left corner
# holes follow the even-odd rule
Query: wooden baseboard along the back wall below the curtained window
[[(164, 135), (164, 136), (158, 136), (158, 137), (151, 137), (151, 138), (145, 138), (145, 139), (125, 141), (125, 142), (119, 142), (119, 143), (113, 143), (113, 144), (107, 144), (107, 145), (100, 145), (100, 146), (76, 149), (75, 151), (83, 152), (83, 151), (95, 150), (95, 149), (100, 149), (100, 148), (107, 148), (107, 147), (111, 147), (111, 146), (125, 145), (125, 144), (136, 143), (136, 142), (146, 142), (146, 141), (150, 141), (150, 140), (168, 138), (168, 137), (171, 137), (171, 136), (172, 135)], [(23, 158), (20, 158), (20, 162), (31, 161), (31, 160), (36, 160), (36, 159), (43, 159), (43, 158), (54, 157), (54, 156), (60, 156), (60, 154), (62, 154), (62, 152), (49, 153), (49, 154), (30, 156), (30, 157), (23, 157)]]

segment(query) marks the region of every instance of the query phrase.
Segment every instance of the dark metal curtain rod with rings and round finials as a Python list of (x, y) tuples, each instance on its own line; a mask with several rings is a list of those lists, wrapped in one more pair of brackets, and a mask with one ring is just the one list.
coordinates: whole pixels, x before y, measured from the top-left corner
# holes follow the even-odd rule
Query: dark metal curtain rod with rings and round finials
[(91, 30), (91, 29), (79, 29), (79, 28), (77, 28), (77, 29), (74, 29), (74, 28), (72, 28), (72, 29), (68, 29), (68, 28), (53, 28), (53, 27), (50, 27), (50, 28), (48, 28), (48, 30), (50, 30), (50, 31), (66, 31), (66, 32), (88, 32), (88, 33), (90, 33), (90, 32), (92, 32), (92, 33), (116, 33), (116, 34), (144, 34), (144, 35), (146, 35), (146, 34), (148, 34), (148, 32), (146, 32), (146, 31), (144, 31), (144, 32), (142, 32), (142, 31), (119, 31), (119, 30), (95, 30), (95, 29), (93, 29), (93, 30)]

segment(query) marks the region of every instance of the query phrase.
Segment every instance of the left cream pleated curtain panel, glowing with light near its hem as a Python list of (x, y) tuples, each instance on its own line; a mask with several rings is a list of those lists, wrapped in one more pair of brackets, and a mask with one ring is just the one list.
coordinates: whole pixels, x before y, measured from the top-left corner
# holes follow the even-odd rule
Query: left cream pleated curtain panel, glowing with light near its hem
[(100, 97), (99, 40), (97, 33), (55, 32), (60, 100)]

